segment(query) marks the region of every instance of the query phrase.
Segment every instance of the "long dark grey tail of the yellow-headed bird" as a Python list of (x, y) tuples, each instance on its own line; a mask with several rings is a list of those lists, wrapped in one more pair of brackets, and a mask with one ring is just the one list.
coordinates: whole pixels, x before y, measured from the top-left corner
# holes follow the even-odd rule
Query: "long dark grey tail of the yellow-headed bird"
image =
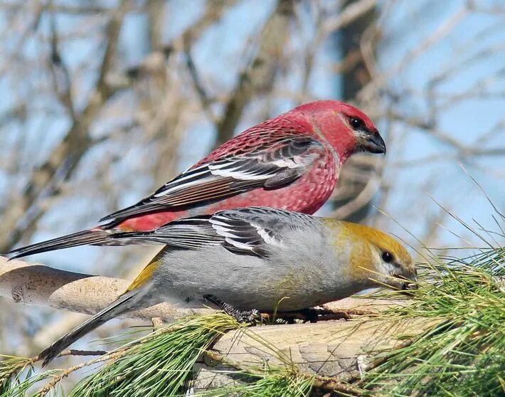
[[(145, 292), (145, 291), (144, 291)], [(129, 292), (121, 295), (117, 300), (112, 302), (109, 306), (102, 309), (100, 312), (95, 314), (93, 317), (87, 319), (83, 324), (78, 325), (72, 331), (67, 332), (63, 337), (60, 337), (56, 342), (46, 347), (38, 355), (38, 359), (43, 359), (42, 366), (46, 366), (53, 361), (53, 359), (58, 356), (64, 349), (73, 344), (76, 340), (83, 337), (88, 332), (93, 329), (100, 327), (100, 325), (119, 316), (124, 312), (129, 312), (131, 310), (139, 309), (139, 297), (144, 296), (143, 289), (131, 290)], [(137, 298), (137, 299), (136, 299)], [(142, 305), (142, 307), (144, 307)]]

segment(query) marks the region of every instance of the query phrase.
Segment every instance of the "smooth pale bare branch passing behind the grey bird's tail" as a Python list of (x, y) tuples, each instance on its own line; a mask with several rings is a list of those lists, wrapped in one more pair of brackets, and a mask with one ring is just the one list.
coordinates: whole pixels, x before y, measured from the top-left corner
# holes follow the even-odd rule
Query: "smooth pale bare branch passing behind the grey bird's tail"
[[(39, 263), (0, 257), (0, 297), (24, 305), (41, 305), (71, 312), (95, 314), (129, 285), (119, 278), (86, 275), (49, 268)], [(124, 314), (122, 317), (171, 320), (212, 309), (178, 309), (168, 304)]]

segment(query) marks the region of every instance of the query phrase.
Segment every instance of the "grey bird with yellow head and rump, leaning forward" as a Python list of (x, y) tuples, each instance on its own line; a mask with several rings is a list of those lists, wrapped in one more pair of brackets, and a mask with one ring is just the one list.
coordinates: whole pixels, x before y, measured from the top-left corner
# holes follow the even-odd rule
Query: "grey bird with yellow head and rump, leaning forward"
[(123, 295), (42, 351), (46, 365), (104, 322), (159, 302), (223, 302), (238, 319), (307, 309), (369, 287), (417, 280), (403, 245), (375, 228), (274, 208), (184, 218), (124, 238), (166, 244)]

